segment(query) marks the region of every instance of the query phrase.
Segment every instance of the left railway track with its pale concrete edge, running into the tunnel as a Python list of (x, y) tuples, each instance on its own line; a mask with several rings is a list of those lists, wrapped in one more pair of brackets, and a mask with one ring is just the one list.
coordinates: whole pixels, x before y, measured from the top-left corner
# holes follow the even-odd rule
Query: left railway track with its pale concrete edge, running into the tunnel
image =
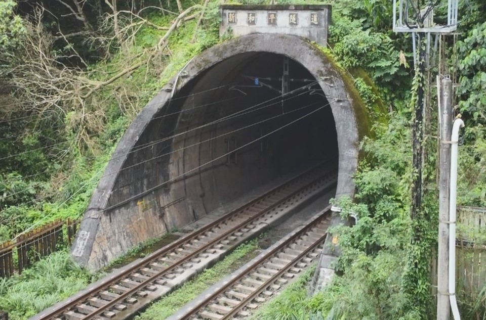
[(212, 223), (155, 251), (109, 280), (31, 319), (121, 319), (180, 286), (226, 251), (335, 184), (335, 168), (318, 165)]

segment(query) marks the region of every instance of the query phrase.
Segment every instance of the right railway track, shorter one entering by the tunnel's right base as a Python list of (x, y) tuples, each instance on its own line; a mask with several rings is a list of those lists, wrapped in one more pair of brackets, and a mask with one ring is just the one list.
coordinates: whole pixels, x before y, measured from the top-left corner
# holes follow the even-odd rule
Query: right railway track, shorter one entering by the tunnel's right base
[(330, 207), (294, 232), (230, 281), (191, 305), (177, 319), (225, 320), (244, 318), (252, 309), (273, 296), (319, 255), (327, 235)]

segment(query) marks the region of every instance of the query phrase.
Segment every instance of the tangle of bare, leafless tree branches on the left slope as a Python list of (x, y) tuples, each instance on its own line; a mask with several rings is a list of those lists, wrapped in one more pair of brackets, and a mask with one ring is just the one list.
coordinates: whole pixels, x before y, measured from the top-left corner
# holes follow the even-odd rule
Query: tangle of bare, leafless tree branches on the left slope
[[(84, 1), (73, 0), (77, 2), (77, 6), (74, 7), (66, 4), (64, 2), (66, 0), (56, 1), (66, 8), (69, 7), (69, 12), (74, 15), (76, 15), (76, 10), (82, 11), (85, 4)], [(138, 13), (118, 11), (115, 0), (100, 1), (104, 1), (112, 9), (112, 13), (103, 16), (103, 20), (98, 25), (100, 29), (96, 32), (90, 32), (87, 28), (66, 35), (59, 31), (58, 35), (51, 36), (46, 33), (42, 23), (44, 11), (39, 10), (32, 19), (26, 21), (27, 36), (21, 43), (18, 52), (0, 52), (0, 59), (8, 61), (8, 65), (10, 65), (8, 69), (5, 69), (5, 65), (0, 66), (0, 74), (9, 74), (7, 81), (14, 88), (15, 97), (24, 102), (20, 108), (29, 113), (55, 110), (59, 118), (63, 120), (66, 117), (69, 118), (67, 124), (75, 132), (79, 150), (96, 148), (96, 144), (90, 136), (93, 135), (93, 132), (99, 132), (104, 125), (102, 110), (94, 107), (100, 104), (100, 100), (105, 99), (98, 94), (101, 88), (107, 86), (110, 88), (113, 97), (119, 101), (121, 112), (127, 115), (135, 114), (141, 103), (139, 93), (120, 84), (120, 79), (130, 75), (143, 65), (147, 66), (145, 74), (147, 77), (151, 65), (157, 64), (154, 60), (165, 53), (168, 48), (172, 32), (184, 21), (197, 17), (199, 17), (197, 26), (200, 27), (205, 7), (209, 3), (209, 1), (205, 1), (204, 7), (196, 5), (187, 8), (175, 17), (169, 27), (165, 27), (143, 18), (140, 11)], [(202, 9), (202, 12), (196, 12), (199, 9)], [(166, 32), (157, 39), (153, 48), (147, 49), (137, 56), (133, 50), (130, 50), (130, 44), (135, 41), (135, 35), (144, 25)], [(119, 46), (119, 54), (123, 54), (125, 59), (115, 59), (109, 62), (111, 64), (109, 69), (118, 71), (115, 73), (104, 69), (83, 71), (62, 64), (65, 59), (59, 59), (60, 57), (56, 55), (56, 51), (53, 50), (54, 41), (63, 39), (70, 44), (69, 37), (85, 34), (90, 35), (88, 43), (91, 43), (92, 46), (100, 46), (102, 49), (114, 48), (115, 44)], [(104, 52), (109, 51), (104, 50)], [(64, 58), (69, 60), (73, 56), (79, 57), (74, 49)]]

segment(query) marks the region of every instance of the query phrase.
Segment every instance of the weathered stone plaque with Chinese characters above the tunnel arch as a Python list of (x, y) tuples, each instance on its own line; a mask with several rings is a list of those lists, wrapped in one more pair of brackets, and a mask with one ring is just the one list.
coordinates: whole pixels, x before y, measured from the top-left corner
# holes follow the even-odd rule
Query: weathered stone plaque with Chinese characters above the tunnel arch
[(326, 46), (330, 5), (222, 5), (220, 35), (292, 34)]

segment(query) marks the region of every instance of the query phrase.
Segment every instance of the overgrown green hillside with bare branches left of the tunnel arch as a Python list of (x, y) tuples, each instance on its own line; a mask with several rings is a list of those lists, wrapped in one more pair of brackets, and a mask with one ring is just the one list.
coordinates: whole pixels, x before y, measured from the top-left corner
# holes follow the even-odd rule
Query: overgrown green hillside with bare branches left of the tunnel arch
[[(95, 32), (98, 38), (80, 41), (82, 48), (72, 41), (61, 49), (59, 46), (66, 43), (50, 34), (57, 24), (52, 17), (33, 11), (27, 21), (28, 17), (15, 15), (15, 2), (2, 3), (0, 30), (9, 32), (0, 44), (11, 49), (0, 51), (0, 115), (7, 119), (0, 122), (0, 154), (8, 155), (0, 160), (0, 241), (31, 225), (80, 217), (111, 152), (135, 115), (191, 57), (219, 41), (217, 2), (208, 4), (198, 27), (201, 6), (192, 2), (182, 6), (193, 6), (193, 16), (170, 33), (166, 26), (174, 23), (177, 15), (166, 10), (178, 11), (172, 2), (158, 10), (144, 10), (143, 19), (150, 23), (124, 20), (124, 25), (118, 26), (124, 37), (115, 36), (110, 43), (104, 43), (98, 34), (113, 36), (109, 34), (112, 29), (103, 29), (103, 23), (113, 23), (113, 12), (107, 12)], [(103, 15), (110, 9), (97, 10)], [(88, 19), (84, 27), (94, 28), (97, 23)], [(140, 27), (134, 29), (131, 23)], [(58, 27), (67, 32), (62, 24)], [(164, 49), (160, 49), (158, 42), (166, 33), (167, 40), (161, 44)], [(188, 41), (191, 38), (194, 41)], [(97, 51), (87, 52), (86, 47)], [(87, 67), (79, 71), (56, 66), (68, 53), (72, 54), (70, 64), (86, 63)], [(35, 59), (41, 54), (47, 56), (44, 64)], [(101, 54), (103, 59), (96, 59)], [(50, 74), (48, 70), (53, 69), (59, 72)], [(133, 71), (127, 72), (129, 69)], [(56, 78), (61, 72), (62, 81)], [(106, 83), (116, 73), (121, 75), (119, 79)], [(35, 79), (43, 77), (51, 82)]]

